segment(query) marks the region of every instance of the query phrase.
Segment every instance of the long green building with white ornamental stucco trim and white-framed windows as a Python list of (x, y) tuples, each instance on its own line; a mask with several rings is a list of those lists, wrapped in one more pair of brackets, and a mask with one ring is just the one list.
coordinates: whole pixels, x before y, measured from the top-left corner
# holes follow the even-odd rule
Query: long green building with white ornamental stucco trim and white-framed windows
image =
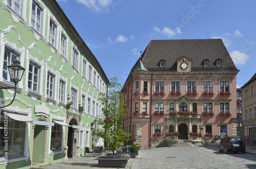
[(57, 2), (0, 0), (0, 16), (0, 86), (14, 86), (7, 66), (15, 59), (26, 68), (10, 106), (3, 108), (14, 89), (0, 89), (0, 168), (67, 161), (103, 146), (91, 133), (109, 80)]

